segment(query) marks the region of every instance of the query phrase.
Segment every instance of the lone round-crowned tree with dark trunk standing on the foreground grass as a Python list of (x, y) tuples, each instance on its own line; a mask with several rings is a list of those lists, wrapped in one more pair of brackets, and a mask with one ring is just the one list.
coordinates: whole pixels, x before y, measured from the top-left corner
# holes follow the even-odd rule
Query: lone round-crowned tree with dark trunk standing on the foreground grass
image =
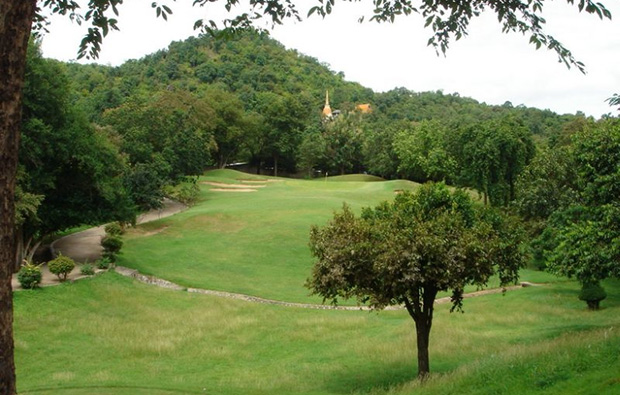
[(307, 286), (334, 304), (356, 297), (375, 309), (405, 305), (424, 378), (437, 293), (452, 291), (452, 310), (461, 311), (466, 285), (482, 287), (495, 273), (502, 286), (517, 281), (525, 259), (514, 223), (444, 184), (403, 193), (360, 217), (345, 205), (327, 226), (312, 228), (318, 260)]

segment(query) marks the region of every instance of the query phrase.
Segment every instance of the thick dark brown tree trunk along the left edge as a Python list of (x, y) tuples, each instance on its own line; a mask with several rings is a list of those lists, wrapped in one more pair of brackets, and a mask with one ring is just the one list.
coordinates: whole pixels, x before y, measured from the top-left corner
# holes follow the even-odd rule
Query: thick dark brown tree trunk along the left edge
[(15, 172), (26, 49), (36, 0), (0, 1), (0, 394), (15, 394), (13, 293)]

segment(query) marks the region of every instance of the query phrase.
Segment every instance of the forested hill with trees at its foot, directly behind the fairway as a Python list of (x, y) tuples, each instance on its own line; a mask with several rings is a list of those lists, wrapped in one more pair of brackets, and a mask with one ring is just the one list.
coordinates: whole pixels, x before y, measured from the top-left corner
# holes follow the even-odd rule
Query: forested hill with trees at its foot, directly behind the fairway
[[(455, 149), (469, 138), (469, 128), (508, 125), (546, 142), (583, 119), (509, 102), (489, 106), (458, 93), (405, 88), (376, 93), (257, 31), (226, 39), (192, 37), (119, 67), (66, 69), (73, 104), (117, 136), (130, 165), (144, 164), (172, 180), (244, 161), (272, 174), (369, 172), (456, 181), (460, 176), (452, 168), (433, 170), (431, 177), (407, 167), (409, 148), (399, 147), (405, 141), (399, 133), (422, 121), (437, 122), (424, 155), (432, 153), (444, 166), (450, 160), (437, 159), (443, 154), (437, 156), (433, 144), (450, 157), (461, 155)], [(331, 108), (343, 114), (331, 125), (321, 122), (327, 91)], [(370, 111), (354, 116), (359, 104), (369, 104)]]

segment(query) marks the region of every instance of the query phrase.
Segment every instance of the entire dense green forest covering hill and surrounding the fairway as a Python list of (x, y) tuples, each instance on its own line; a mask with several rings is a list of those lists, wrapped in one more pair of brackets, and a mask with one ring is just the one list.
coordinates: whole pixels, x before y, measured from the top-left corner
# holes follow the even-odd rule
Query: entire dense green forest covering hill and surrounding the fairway
[[(617, 261), (617, 118), (377, 93), (256, 31), (189, 38), (119, 67), (44, 59), (33, 43), (26, 80), (17, 189), (26, 257), (48, 234), (131, 222), (165, 196), (191, 201), (195, 176), (245, 163), (271, 175), (366, 172), (471, 188), (521, 215), (541, 265), (584, 283), (619, 274), (604, 262), (584, 272), (562, 250), (607, 243)], [(322, 114), (327, 92), (338, 116)]]

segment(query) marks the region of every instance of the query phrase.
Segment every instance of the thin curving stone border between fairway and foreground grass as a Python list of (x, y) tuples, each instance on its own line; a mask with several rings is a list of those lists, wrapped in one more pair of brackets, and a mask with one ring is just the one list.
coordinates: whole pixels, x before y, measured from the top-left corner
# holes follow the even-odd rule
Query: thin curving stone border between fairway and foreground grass
[[(161, 288), (172, 289), (175, 291), (185, 291), (189, 293), (198, 293), (202, 295), (217, 296), (217, 297), (226, 298), (226, 299), (242, 300), (244, 302), (262, 303), (262, 304), (284, 306), (284, 307), (297, 307), (301, 309), (313, 309), (313, 310), (345, 310), (345, 311), (370, 311), (371, 310), (371, 308), (369, 308), (368, 306), (332, 306), (332, 305), (325, 305), (325, 304), (284, 302), (281, 300), (265, 299), (265, 298), (261, 298), (258, 296), (250, 296), (250, 295), (244, 295), (244, 294), (239, 294), (239, 293), (234, 293), (234, 292), (214, 291), (210, 289), (191, 288), (191, 287), (187, 288), (187, 287), (183, 287), (181, 285), (175, 284), (173, 282), (170, 282), (168, 280), (163, 280), (155, 276), (148, 276), (146, 274), (142, 274), (135, 269), (130, 269), (124, 266), (117, 266), (116, 272), (122, 276), (130, 277), (142, 283), (155, 285)], [(522, 282), (519, 285), (513, 285), (513, 286), (505, 287), (505, 288), (484, 289), (482, 291), (466, 293), (463, 295), (463, 297), (474, 298), (477, 296), (497, 294), (497, 293), (501, 293), (505, 291), (512, 291), (512, 290), (519, 289), (519, 288), (537, 286), (537, 285), (540, 285), (540, 284)], [(450, 302), (449, 296), (435, 299), (435, 304), (444, 304), (444, 303), (449, 303), (449, 302)], [(385, 310), (402, 310), (402, 309), (404, 309), (403, 306), (389, 306), (385, 308)]]

